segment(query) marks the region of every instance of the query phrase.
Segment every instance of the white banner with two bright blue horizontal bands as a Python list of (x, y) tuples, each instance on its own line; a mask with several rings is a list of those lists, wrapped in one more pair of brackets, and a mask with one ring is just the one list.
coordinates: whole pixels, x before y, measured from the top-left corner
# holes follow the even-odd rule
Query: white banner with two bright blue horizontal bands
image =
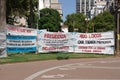
[(37, 30), (7, 26), (7, 52), (35, 52)]

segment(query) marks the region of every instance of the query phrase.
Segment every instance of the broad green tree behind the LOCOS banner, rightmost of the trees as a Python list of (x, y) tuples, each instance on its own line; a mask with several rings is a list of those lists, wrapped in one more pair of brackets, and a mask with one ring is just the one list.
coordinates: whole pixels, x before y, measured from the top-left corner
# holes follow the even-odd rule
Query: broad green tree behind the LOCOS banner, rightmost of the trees
[(95, 32), (105, 32), (115, 30), (114, 16), (109, 11), (104, 11), (98, 16), (94, 17), (91, 22), (89, 30)]

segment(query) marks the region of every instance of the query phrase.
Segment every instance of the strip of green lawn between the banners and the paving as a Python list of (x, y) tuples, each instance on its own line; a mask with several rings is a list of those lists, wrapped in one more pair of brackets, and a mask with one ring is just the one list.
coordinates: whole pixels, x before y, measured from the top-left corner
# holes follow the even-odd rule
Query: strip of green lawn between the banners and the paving
[(104, 58), (112, 57), (113, 55), (105, 54), (81, 54), (81, 53), (25, 53), (25, 54), (10, 54), (6, 58), (0, 58), (0, 64), (28, 62), (39, 60), (55, 60), (55, 59), (73, 59), (73, 58)]

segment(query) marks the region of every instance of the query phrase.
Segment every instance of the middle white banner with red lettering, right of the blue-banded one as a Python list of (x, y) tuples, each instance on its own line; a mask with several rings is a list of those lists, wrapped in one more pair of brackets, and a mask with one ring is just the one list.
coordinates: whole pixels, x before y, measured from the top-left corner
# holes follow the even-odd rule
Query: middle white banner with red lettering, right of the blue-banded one
[(44, 31), (38, 33), (38, 52), (69, 51), (69, 34)]

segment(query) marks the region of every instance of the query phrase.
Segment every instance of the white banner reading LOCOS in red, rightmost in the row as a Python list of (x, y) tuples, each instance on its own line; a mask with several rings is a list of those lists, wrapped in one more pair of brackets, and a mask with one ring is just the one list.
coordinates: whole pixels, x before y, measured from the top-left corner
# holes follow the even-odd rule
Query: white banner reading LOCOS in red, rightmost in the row
[(114, 53), (114, 32), (77, 33), (74, 40), (75, 52)]

